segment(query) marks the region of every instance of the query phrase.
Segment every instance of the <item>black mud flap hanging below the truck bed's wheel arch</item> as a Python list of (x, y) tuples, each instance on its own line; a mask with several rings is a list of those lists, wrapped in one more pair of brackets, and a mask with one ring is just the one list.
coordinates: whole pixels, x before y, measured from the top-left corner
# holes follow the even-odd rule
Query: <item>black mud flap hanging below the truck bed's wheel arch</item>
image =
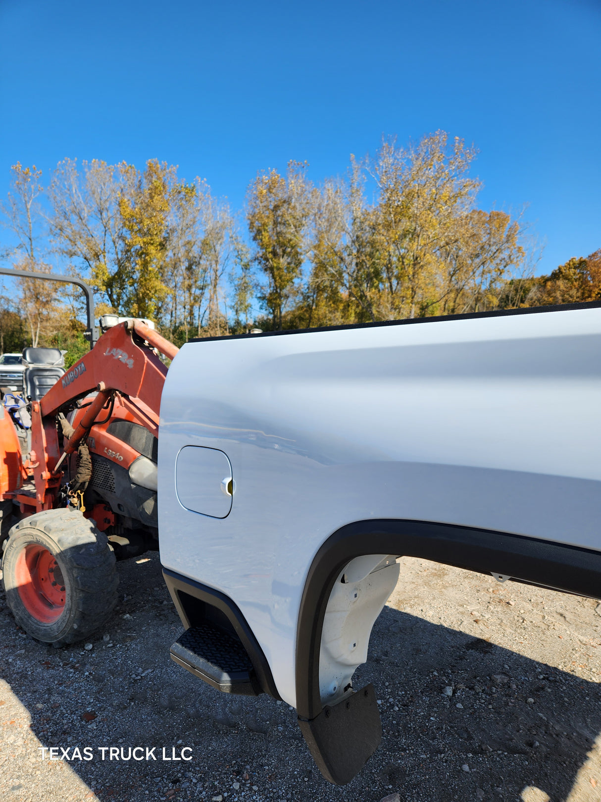
[(371, 684), (333, 707), (325, 706), (315, 719), (299, 716), (298, 723), (317, 768), (336, 785), (353, 780), (382, 739), (380, 711)]

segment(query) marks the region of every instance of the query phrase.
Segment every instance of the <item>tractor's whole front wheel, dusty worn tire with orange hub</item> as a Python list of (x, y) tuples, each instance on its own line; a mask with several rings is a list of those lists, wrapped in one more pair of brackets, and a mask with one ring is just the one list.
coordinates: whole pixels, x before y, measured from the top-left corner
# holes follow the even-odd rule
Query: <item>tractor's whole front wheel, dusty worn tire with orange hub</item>
[(10, 529), (2, 584), (15, 621), (32, 638), (65, 646), (111, 617), (119, 577), (107, 537), (74, 509), (51, 509)]

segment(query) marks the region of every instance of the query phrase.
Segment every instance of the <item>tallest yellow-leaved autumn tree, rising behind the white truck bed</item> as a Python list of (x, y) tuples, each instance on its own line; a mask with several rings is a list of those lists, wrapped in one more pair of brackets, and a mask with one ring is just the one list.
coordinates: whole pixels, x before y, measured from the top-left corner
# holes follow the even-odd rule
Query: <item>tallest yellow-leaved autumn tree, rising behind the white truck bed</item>
[(422, 317), (448, 291), (446, 256), (457, 251), (480, 188), (469, 176), (474, 156), (462, 140), (449, 145), (439, 131), (409, 148), (384, 142), (368, 160), (379, 190), (374, 215), (380, 319)]

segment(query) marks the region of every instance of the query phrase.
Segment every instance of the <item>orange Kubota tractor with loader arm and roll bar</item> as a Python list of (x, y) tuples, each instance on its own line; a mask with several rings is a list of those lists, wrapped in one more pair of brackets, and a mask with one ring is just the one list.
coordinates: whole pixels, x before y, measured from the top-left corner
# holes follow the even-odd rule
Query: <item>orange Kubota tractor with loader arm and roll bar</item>
[(86, 638), (110, 617), (115, 560), (158, 549), (157, 435), (167, 375), (159, 354), (178, 352), (138, 319), (115, 318), (96, 342), (91, 290), (75, 283), (87, 294), (91, 350), (45, 395), (18, 399), (30, 438), (18, 436), (20, 421), (0, 405), (6, 601), (23, 630), (54, 646)]

